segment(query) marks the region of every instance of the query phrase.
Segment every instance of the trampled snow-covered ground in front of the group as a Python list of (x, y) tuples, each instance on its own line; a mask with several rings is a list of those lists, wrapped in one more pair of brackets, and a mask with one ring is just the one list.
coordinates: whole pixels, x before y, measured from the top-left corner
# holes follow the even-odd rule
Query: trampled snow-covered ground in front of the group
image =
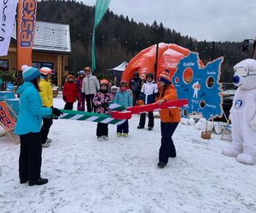
[[(61, 98), (55, 107), (63, 107)], [(177, 158), (157, 168), (160, 120), (153, 131), (96, 140), (96, 123), (55, 120), (43, 150), (44, 186), (20, 185), (19, 147), (0, 138), (0, 212), (256, 212), (256, 165), (221, 154), (227, 141), (203, 141), (194, 127), (179, 124)]]

